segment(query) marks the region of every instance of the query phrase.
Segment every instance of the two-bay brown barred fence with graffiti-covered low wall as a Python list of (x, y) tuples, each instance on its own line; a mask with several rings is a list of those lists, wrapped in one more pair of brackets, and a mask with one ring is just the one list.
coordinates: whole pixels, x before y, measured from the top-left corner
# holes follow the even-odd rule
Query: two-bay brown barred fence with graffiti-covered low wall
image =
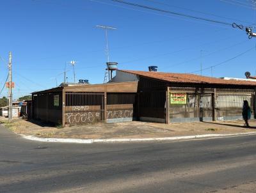
[(100, 92), (65, 93), (65, 124), (128, 121), (136, 116), (136, 93), (106, 93), (106, 104), (104, 96)]

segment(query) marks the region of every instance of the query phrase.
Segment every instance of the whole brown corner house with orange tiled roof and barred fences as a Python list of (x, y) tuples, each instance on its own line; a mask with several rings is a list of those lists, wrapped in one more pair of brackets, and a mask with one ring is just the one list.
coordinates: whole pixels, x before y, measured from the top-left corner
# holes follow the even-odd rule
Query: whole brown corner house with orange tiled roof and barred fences
[(188, 73), (117, 70), (108, 84), (33, 93), (33, 118), (62, 125), (106, 121), (236, 120), (243, 100), (255, 112), (256, 82)]

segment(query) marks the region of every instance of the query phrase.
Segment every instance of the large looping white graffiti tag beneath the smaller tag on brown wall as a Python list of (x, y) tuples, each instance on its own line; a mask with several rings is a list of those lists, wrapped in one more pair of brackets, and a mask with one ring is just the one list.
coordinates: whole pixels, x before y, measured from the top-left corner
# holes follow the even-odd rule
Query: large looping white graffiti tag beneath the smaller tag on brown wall
[(101, 121), (101, 113), (98, 111), (94, 112), (67, 112), (65, 119), (68, 124), (77, 123), (95, 123)]

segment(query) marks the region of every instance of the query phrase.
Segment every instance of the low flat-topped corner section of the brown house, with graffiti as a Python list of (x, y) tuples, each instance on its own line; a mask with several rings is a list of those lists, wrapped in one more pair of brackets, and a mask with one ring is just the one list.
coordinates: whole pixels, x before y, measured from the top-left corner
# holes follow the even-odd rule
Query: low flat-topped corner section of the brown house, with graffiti
[(32, 118), (60, 125), (136, 118), (138, 82), (64, 86), (32, 93)]

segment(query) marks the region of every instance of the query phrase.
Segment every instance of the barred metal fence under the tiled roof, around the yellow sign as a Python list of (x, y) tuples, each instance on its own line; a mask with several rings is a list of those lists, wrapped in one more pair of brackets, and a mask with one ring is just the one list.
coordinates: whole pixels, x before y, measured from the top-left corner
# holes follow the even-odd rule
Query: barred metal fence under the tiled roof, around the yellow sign
[(186, 94), (185, 104), (170, 102), (170, 122), (233, 120), (241, 118), (243, 100), (253, 111), (253, 89), (170, 88), (170, 94)]

